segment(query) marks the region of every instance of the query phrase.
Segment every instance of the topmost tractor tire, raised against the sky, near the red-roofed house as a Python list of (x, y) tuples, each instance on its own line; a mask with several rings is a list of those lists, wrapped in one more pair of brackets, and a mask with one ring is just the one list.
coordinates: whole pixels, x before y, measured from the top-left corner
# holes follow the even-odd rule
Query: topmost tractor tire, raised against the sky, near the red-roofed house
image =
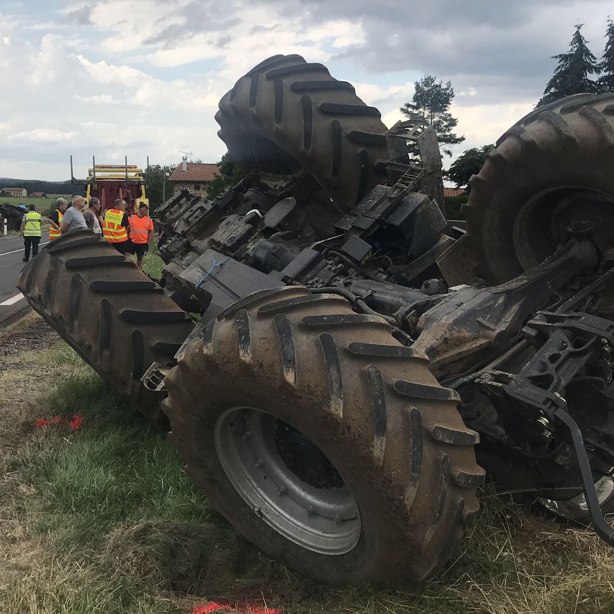
[(244, 172), (303, 166), (348, 211), (386, 181), (386, 126), (346, 81), (300, 55), (274, 55), (239, 79), (219, 104), (220, 139)]

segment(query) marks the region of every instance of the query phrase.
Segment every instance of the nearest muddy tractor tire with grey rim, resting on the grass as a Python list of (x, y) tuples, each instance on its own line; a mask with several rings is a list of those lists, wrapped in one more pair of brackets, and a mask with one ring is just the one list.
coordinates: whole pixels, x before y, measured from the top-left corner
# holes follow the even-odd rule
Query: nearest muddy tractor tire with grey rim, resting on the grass
[(478, 435), (383, 319), (264, 290), (178, 358), (169, 438), (239, 534), (333, 585), (441, 570), (478, 508)]

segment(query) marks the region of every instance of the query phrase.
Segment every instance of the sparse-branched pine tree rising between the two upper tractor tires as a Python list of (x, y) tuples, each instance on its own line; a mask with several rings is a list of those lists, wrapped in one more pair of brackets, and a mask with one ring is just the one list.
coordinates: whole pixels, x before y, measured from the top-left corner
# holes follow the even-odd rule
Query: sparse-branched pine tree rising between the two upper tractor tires
[[(435, 82), (436, 77), (425, 75), (416, 81), (414, 95), (411, 103), (405, 103), (400, 108), (403, 115), (408, 119), (426, 119), (435, 128), (440, 145), (455, 145), (465, 140), (464, 136), (453, 133), (458, 120), (449, 113), (449, 107), (454, 98), (454, 89), (451, 82)], [(449, 148), (443, 148), (443, 152), (452, 155)]]

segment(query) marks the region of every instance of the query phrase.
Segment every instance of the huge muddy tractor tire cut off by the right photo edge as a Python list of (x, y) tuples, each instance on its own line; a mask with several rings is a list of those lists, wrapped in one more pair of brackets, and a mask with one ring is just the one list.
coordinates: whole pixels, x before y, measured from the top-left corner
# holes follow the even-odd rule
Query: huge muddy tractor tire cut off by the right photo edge
[(614, 94), (578, 94), (523, 117), (486, 155), (463, 212), (473, 273), (499, 284), (554, 252), (573, 221), (614, 246)]

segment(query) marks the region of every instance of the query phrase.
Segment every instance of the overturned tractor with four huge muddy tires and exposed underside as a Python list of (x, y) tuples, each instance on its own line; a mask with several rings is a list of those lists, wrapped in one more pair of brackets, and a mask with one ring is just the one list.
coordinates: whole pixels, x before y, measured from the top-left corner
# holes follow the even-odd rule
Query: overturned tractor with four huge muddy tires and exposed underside
[(211, 505), (308, 577), (437, 573), (485, 470), (614, 543), (613, 103), (512, 126), (465, 233), (432, 128), (387, 130), (321, 64), (273, 56), (216, 115), (246, 178), (159, 212), (164, 290), (87, 230), (19, 287)]

